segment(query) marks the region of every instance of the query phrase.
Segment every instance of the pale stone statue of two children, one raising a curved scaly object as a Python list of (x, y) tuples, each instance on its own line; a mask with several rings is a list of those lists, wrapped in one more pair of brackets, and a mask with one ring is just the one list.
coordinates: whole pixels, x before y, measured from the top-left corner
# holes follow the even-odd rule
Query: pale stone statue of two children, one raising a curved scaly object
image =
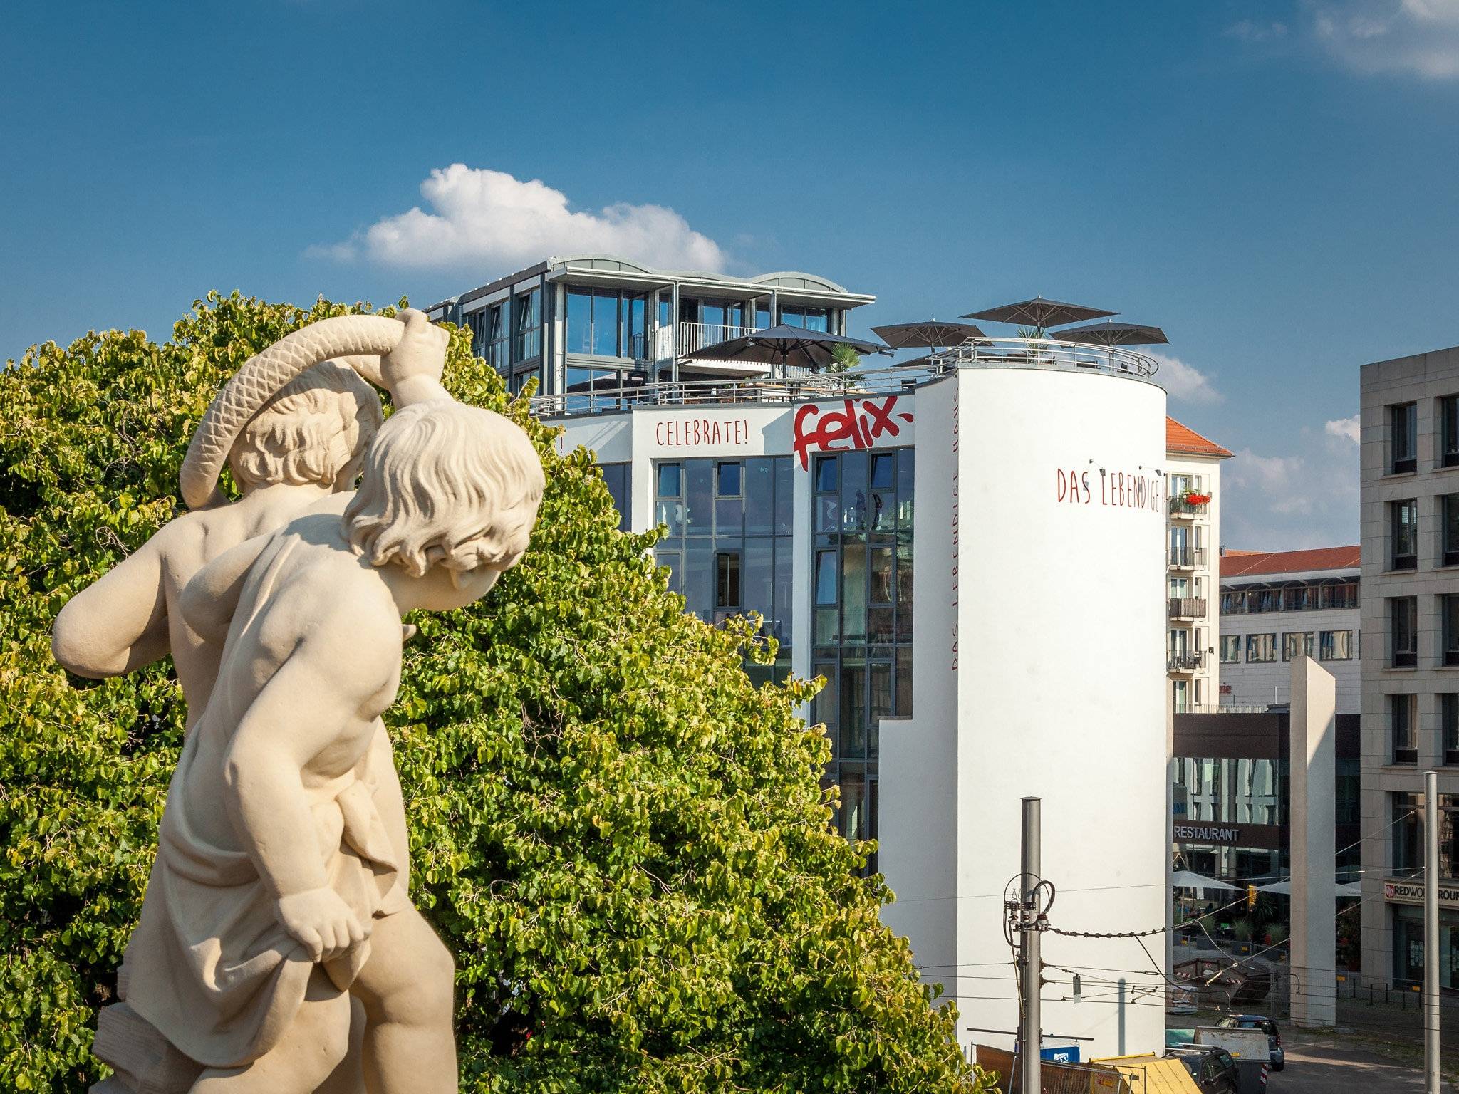
[[(125, 1004), (109, 1008), (121, 1012), (111, 1055), (105, 1014), (98, 1036), (98, 1055), (118, 1068), (108, 1090), (349, 1088), (357, 1079), (340, 1065), (353, 1040), (372, 1093), (457, 1088), (452, 963), (409, 901), (404, 811), (379, 715), (398, 686), (401, 616), (470, 604), (521, 557), (543, 473), (518, 426), (445, 395), (445, 334), (423, 315), (344, 318), (369, 319), (349, 324), (368, 337), (338, 337), (341, 321), (325, 319), (244, 366), (194, 438), (182, 490), (190, 503), (207, 500), (226, 455), (238, 476), (239, 438), (285, 435), (260, 407), (267, 414), (301, 371), (344, 353), (407, 404), (371, 442), (359, 493), (315, 497), (282, 528), (207, 551), (212, 560), (163, 541), (156, 563), (127, 570), (128, 559), (57, 621), (57, 655), (76, 671), (146, 664), (166, 652), (163, 632), (175, 653), (190, 651), (179, 677), (184, 658), (196, 670), (184, 681), (190, 732), (127, 948)], [(321, 331), (327, 324), (336, 330)], [(378, 363), (353, 356), (379, 353)], [(349, 433), (349, 423), (321, 430)], [(320, 486), (324, 462), (305, 449), (321, 448), (285, 455), (308, 464), (303, 486)], [(242, 516), (252, 493), (188, 516)], [(194, 538), (206, 550), (207, 535)], [(168, 591), (168, 575), (188, 566), (196, 575)], [(140, 616), (149, 582), (160, 607), (146, 626), (101, 627), (88, 642), (88, 616), (104, 604)]]

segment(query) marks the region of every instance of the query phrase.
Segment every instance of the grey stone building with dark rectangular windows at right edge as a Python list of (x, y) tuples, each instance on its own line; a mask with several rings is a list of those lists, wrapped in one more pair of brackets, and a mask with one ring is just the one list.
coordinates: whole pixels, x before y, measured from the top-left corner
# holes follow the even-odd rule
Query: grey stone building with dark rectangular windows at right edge
[[(1459, 988), (1459, 347), (1361, 369), (1363, 971), (1423, 979), (1439, 770), (1444, 988)], [(1415, 881), (1415, 878), (1418, 878)]]

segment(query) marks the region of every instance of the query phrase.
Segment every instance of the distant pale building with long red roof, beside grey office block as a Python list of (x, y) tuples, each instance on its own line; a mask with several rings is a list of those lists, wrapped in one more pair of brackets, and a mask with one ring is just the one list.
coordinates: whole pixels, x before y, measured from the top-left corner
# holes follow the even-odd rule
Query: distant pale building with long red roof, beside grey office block
[(1226, 551), (1221, 569), (1220, 705), (1285, 703), (1291, 659), (1328, 670), (1338, 713), (1361, 709), (1361, 550)]

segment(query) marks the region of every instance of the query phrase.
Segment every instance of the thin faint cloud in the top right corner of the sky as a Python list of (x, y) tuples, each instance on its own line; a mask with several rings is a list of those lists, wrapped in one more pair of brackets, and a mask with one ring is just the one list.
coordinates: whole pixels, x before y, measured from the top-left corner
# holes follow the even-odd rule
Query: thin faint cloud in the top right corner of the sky
[(1364, 76), (1459, 79), (1459, 0), (1309, 0), (1312, 34)]

